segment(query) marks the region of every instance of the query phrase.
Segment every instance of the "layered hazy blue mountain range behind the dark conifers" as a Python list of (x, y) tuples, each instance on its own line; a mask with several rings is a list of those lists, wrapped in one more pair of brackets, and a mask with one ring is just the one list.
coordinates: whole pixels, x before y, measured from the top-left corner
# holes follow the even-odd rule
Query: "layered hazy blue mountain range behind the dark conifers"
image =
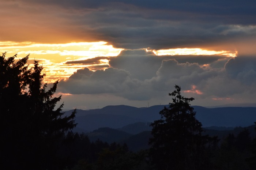
[[(126, 143), (130, 150), (147, 149), (151, 137), (150, 123), (160, 119), (159, 111), (164, 106), (137, 108), (132, 106), (106, 106), (101, 109), (77, 110), (74, 131), (86, 133), (90, 141)], [(256, 135), (256, 107), (192, 106), (196, 118), (203, 124), (204, 134), (225, 138), (229, 133), (237, 135), (243, 127), (249, 129), (251, 137)], [(72, 110), (65, 114), (70, 114)], [(236, 128), (235, 128), (236, 127)]]

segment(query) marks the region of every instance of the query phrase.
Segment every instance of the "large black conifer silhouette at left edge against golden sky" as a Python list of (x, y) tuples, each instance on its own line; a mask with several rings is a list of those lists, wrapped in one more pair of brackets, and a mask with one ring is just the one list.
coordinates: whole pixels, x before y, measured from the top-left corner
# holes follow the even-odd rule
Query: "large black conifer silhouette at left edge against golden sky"
[[(0, 56), (1, 165), (4, 169), (57, 169), (56, 151), (66, 131), (75, 127), (75, 113), (63, 116), (57, 82), (46, 90), (42, 66), (25, 58)], [(28, 88), (28, 90), (26, 89)]]

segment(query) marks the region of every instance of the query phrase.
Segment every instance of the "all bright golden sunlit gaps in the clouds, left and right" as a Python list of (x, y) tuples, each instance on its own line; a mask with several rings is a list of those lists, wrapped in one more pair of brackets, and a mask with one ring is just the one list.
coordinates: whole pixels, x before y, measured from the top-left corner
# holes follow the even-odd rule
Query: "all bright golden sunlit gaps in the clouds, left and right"
[[(0, 41), (0, 52), (7, 51), (7, 56), (18, 54), (18, 58), (23, 58), (30, 54), (29, 64), (33, 66), (33, 60), (39, 60), (39, 63), (44, 67), (43, 72), (46, 73), (45, 81), (54, 82), (58, 79), (67, 79), (78, 69), (88, 67), (92, 71), (97, 69), (106, 69), (109, 65), (108, 59), (100, 59), (95, 63), (79, 63), (74, 64), (75, 61), (82, 61), (92, 59), (95, 57), (110, 57), (118, 56), (124, 50), (121, 48), (114, 48), (108, 45), (107, 42), (72, 42), (65, 44), (42, 44), (34, 42), (13, 42)], [(201, 48), (176, 48), (168, 50), (145, 50), (154, 52), (155, 55), (226, 55), (235, 57), (235, 53), (229, 51), (209, 51)], [(68, 61), (73, 61), (73, 64), (66, 64)], [(203, 66), (207, 67), (207, 66)], [(196, 92), (192, 88), (190, 92)]]

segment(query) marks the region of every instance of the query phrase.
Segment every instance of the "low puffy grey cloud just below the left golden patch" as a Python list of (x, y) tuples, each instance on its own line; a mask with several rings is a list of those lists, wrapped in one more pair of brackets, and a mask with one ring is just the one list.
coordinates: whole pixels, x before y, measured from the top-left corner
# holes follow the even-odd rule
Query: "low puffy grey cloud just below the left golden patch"
[(76, 71), (69, 79), (60, 81), (60, 88), (70, 94), (103, 94), (129, 91), (133, 81), (129, 72), (109, 67), (105, 70), (90, 71), (88, 68)]

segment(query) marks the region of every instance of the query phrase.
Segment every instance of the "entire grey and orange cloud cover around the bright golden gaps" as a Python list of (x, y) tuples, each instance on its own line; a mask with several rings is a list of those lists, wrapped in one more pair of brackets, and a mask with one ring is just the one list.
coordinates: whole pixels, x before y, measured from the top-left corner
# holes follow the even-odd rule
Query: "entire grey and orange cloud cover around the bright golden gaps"
[[(117, 57), (98, 56), (67, 62), (99, 64), (100, 59), (109, 59), (110, 67), (95, 72), (88, 68), (78, 70), (66, 82), (60, 81), (61, 92), (150, 100), (167, 95), (178, 84), (183, 90), (196, 86), (203, 94), (192, 96), (201, 99), (255, 102), (255, 0), (12, 0), (1, 3), (4, 7), (0, 11), (0, 21), (4, 23), (0, 28), (1, 41), (106, 41), (125, 49)], [(238, 57), (155, 56), (140, 50), (142, 48), (237, 50)]]

